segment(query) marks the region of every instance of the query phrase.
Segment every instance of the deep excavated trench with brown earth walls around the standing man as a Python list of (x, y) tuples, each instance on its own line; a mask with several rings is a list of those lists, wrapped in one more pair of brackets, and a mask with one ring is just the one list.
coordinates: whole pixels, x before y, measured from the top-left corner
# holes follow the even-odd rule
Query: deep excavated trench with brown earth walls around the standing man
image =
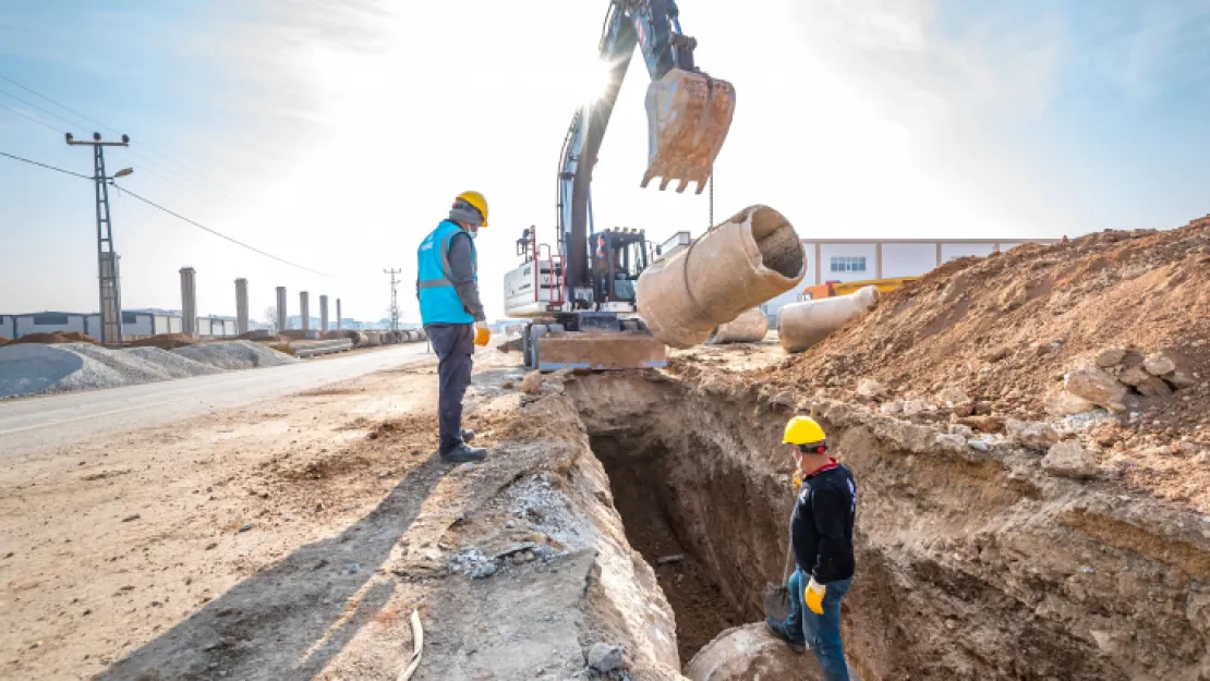
[[(779, 435), (795, 409), (759, 386), (653, 375), (582, 376), (566, 394), (673, 608), (681, 665), (761, 622), (785, 569)], [(843, 636), (862, 679), (1210, 679), (1199, 516), (1047, 477), (1022, 449), (945, 446), (860, 405), (817, 417), (858, 480)]]

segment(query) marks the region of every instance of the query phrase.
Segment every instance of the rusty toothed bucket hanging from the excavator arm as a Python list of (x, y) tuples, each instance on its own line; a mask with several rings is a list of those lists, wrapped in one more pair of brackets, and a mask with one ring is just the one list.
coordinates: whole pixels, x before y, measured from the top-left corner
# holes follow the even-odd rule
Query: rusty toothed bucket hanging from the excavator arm
[(702, 194), (714, 158), (731, 129), (736, 88), (708, 75), (673, 69), (647, 87), (647, 172), (640, 186), (678, 180), (676, 192), (697, 183)]

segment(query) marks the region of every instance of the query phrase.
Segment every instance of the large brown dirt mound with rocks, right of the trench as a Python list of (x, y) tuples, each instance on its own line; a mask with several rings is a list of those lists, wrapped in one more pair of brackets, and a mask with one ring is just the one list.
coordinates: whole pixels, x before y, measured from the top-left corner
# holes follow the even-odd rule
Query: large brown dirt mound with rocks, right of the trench
[(951, 261), (747, 377), (773, 394), (823, 389), (981, 432), (1048, 420), (1131, 483), (1210, 503), (1193, 487), (1210, 483), (1200, 472), (1210, 461), (1210, 218)]

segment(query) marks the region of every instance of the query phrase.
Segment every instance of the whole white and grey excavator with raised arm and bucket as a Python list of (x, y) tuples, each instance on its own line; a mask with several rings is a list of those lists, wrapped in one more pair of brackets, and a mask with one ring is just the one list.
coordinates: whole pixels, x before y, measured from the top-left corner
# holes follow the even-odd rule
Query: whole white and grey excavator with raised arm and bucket
[(651, 76), (647, 169), (684, 192), (702, 194), (731, 128), (736, 91), (693, 62), (697, 40), (685, 35), (675, 0), (611, 0), (598, 52), (609, 79), (595, 102), (571, 120), (559, 154), (558, 241), (538, 243), (536, 229), (517, 239), (523, 264), (505, 275), (505, 312), (529, 319), (522, 330), (525, 365), (559, 369), (664, 367), (664, 345), (646, 330), (635, 306), (635, 283), (658, 255), (644, 230), (597, 230), (592, 173), (630, 59), (638, 47)]

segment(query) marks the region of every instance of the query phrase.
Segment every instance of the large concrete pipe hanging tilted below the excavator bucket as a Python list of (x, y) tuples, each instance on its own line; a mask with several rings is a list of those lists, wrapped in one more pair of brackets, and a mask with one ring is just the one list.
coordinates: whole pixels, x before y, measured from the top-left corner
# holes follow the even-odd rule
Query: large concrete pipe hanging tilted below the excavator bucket
[(719, 324), (802, 281), (807, 259), (794, 226), (767, 206), (744, 208), (639, 276), (639, 314), (672, 347), (692, 347)]

